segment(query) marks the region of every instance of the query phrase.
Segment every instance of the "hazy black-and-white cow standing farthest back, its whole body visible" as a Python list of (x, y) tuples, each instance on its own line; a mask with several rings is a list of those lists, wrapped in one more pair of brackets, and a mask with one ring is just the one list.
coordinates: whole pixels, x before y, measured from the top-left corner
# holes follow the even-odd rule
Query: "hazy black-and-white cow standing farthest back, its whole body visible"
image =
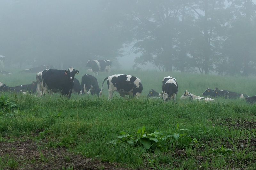
[[(86, 64), (86, 67), (91, 67), (92, 72), (95, 76), (98, 75), (99, 72), (106, 71), (107, 74), (110, 74), (110, 68), (111, 68), (112, 62), (110, 60), (89, 60)], [(89, 70), (89, 69), (88, 69)]]

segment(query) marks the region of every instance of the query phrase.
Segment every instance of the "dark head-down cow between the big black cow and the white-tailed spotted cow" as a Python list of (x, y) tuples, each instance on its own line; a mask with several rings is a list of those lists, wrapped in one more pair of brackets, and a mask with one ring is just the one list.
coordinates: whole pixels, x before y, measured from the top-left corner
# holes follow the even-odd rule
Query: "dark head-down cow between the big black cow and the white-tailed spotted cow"
[(97, 96), (99, 96), (100, 94), (98, 81), (96, 77), (90, 74), (84, 74), (82, 77), (80, 96), (86, 91), (88, 95), (90, 94), (90, 92), (92, 95), (97, 94)]

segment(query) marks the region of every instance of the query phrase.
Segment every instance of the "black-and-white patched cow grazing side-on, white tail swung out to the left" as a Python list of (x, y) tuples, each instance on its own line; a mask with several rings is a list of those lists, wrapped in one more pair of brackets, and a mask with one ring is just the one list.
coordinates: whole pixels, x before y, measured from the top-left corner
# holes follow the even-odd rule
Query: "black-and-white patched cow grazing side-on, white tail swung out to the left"
[(108, 84), (108, 99), (111, 99), (114, 91), (117, 91), (121, 97), (125, 95), (140, 96), (143, 87), (140, 79), (126, 74), (114, 74), (104, 79), (100, 90), (102, 95), (103, 84), (107, 80)]

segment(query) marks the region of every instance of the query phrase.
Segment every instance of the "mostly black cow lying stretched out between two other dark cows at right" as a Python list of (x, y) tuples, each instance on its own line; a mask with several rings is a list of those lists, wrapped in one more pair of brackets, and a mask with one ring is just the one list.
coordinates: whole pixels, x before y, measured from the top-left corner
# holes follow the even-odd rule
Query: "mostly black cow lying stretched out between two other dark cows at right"
[(240, 93), (236, 93), (233, 91), (228, 91), (228, 90), (219, 90), (217, 87), (213, 90), (212, 94), (210, 95), (210, 97), (220, 97), (223, 96), (225, 98), (245, 98), (245, 97), (249, 97), (246, 94), (240, 94)]

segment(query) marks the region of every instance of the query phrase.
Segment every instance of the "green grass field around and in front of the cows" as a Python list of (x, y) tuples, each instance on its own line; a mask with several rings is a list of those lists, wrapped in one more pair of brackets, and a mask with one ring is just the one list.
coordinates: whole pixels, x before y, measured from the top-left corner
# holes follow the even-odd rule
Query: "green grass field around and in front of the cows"
[[(76, 78), (81, 82), (84, 69)], [(8, 71), (8, 70), (7, 70)], [(14, 70), (15, 72), (15, 70)], [(181, 100), (210, 87), (256, 95), (255, 77), (154, 71), (120, 71), (140, 78), (140, 98), (72, 94), (69, 100), (22, 93), (0, 94), (0, 169), (255, 169), (256, 106), (244, 99)], [(162, 80), (176, 78), (175, 102), (147, 99)], [(97, 77), (101, 86), (106, 73)], [(36, 74), (2, 76), (8, 86)]]

